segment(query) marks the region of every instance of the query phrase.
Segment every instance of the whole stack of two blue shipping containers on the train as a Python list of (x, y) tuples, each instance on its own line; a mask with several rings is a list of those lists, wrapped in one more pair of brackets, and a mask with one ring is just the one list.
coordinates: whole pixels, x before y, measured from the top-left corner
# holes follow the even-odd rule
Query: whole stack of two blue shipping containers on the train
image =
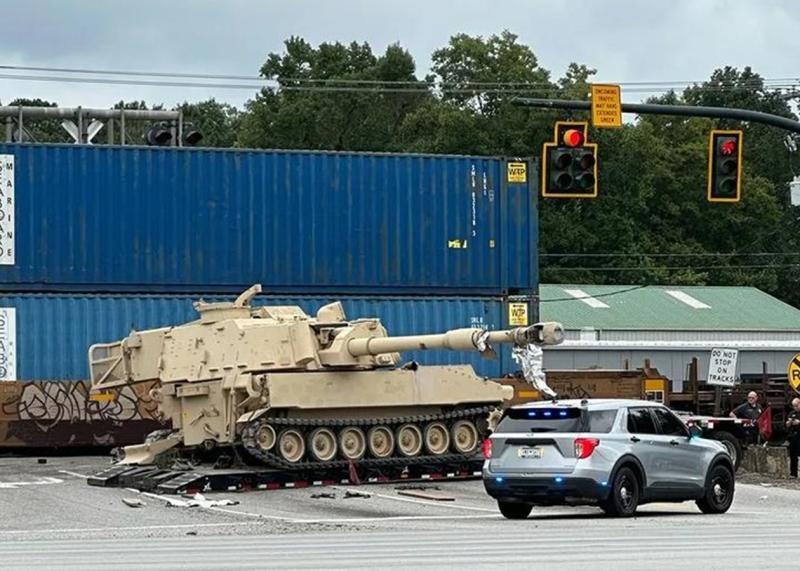
[(0, 164), (4, 379), (83, 379), (89, 344), (256, 282), (260, 303), (343, 299), (397, 335), (533, 318), (528, 161), (26, 144)]

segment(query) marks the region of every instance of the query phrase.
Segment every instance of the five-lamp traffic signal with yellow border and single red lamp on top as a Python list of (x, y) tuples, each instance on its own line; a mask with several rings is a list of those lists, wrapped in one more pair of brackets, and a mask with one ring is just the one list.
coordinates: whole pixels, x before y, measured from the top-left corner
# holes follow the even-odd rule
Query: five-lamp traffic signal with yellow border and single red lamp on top
[(559, 121), (542, 152), (542, 196), (597, 197), (597, 145), (586, 141), (586, 122)]

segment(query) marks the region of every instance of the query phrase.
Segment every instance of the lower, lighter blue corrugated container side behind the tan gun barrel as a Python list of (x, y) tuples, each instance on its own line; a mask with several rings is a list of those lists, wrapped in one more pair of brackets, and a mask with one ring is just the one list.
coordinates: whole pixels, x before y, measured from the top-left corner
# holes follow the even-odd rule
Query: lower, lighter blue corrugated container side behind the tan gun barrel
[[(122, 339), (132, 329), (151, 329), (197, 318), (194, 296), (2, 295), (0, 308), (16, 309), (16, 371), (18, 380), (78, 380), (89, 374), (89, 345)], [(206, 297), (207, 301), (223, 298)], [(228, 298), (232, 299), (232, 298)], [(503, 304), (490, 298), (371, 298), (344, 297), (350, 319), (379, 317), (390, 335), (438, 333), (459, 327), (497, 328)], [(255, 303), (299, 305), (310, 315), (331, 301), (324, 297), (257, 297)], [(498, 349), (500, 349), (498, 347)], [(499, 360), (474, 353), (418, 351), (404, 361), (421, 364), (470, 363), (484, 376), (506, 372), (509, 355)]]

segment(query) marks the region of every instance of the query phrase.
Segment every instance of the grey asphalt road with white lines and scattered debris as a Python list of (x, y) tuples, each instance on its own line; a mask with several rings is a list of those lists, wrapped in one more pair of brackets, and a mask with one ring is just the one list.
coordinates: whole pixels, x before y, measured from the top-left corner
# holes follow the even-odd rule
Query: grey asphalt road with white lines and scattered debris
[[(213, 494), (238, 505), (167, 507), (167, 499), (92, 488), (98, 458), (0, 458), (3, 569), (522, 568), (796, 569), (800, 491), (740, 485), (732, 510), (653, 504), (616, 520), (591, 507), (499, 516), (480, 482), (438, 484), (455, 501), (395, 486)], [(346, 498), (347, 491), (364, 497)], [(314, 494), (332, 498), (312, 498)], [(132, 508), (122, 499), (139, 499)]]

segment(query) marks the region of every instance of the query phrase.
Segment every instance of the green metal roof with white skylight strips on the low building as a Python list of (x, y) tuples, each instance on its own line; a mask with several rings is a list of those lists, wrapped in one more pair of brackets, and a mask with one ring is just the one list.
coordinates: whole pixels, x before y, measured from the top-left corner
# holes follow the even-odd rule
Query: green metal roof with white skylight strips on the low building
[(542, 319), (567, 329), (800, 331), (800, 310), (753, 287), (549, 284), (539, 294)]

